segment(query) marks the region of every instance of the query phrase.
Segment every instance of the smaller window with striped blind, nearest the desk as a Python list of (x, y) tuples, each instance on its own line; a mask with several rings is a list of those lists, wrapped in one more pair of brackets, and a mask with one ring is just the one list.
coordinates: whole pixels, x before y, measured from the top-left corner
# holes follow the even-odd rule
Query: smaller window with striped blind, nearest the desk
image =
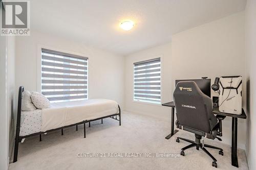
[(161, 104), (160, 58), (134, 63), (134, 101)]

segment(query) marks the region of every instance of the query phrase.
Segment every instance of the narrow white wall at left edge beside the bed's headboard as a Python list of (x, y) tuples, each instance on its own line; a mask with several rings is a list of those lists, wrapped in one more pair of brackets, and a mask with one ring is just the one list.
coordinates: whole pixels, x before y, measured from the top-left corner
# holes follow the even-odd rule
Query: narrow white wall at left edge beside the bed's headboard
[(13, 143), (15, 37), (0, 37), (0, 169), (8, 169)]

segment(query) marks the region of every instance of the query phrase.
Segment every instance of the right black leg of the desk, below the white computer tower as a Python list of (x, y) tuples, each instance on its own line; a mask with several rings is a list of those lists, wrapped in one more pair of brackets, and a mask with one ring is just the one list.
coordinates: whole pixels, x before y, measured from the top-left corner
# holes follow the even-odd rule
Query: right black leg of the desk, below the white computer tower
[(231, 164), (238, 167), (238, 118), (232, 117), (232, 148), (231, 148)]

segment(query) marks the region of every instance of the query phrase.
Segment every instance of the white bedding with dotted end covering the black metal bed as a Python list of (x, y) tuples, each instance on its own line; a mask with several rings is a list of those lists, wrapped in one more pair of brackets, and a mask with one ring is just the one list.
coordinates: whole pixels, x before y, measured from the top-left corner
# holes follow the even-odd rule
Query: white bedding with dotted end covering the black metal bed
[(51, 108), (22, 112), (20, 136), (45, 132), (118, 112), (118, 104), (106, 99), (52, 103)]

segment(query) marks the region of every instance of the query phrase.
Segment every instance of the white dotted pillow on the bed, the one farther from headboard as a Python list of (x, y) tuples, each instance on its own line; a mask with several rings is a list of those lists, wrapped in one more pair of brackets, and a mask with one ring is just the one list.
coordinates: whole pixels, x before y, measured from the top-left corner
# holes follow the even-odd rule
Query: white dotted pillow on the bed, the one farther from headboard
[(50, 101), (36, 91), (31, 92), (31, 100), (37, 109), (50, 108)]

